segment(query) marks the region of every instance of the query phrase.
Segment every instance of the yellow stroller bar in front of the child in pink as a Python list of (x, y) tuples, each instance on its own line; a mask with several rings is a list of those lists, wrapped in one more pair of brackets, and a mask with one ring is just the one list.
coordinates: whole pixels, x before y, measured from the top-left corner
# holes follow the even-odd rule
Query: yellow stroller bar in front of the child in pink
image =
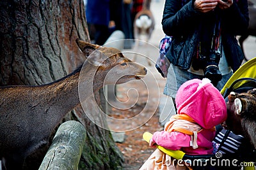
[[(149, 140), (152, 138), (152, 136), (153, 134), (151, 134), (150, 132), (144, 132), (143, 139), (149, 143)], [(159, 145), (156, 145), (156, 147), (162, 152), (166, 153), (167, 155), (170, 155), (171, 157), (177, 160), (182, 159), (183, 156), (185, 155), (185, 153), (182, 152), (181, 150), (168, 150), (163, 146), (159, 146)]]

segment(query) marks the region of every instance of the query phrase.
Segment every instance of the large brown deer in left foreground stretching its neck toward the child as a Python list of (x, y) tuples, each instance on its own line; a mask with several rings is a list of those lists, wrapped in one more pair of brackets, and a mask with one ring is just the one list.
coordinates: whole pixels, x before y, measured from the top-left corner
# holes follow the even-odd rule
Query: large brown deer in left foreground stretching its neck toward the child
[[(63, 117), (92, 92), (105, 84), (140, 80), (147, 74), (145, 67), (127, 59), (116, 48), (93, 45), (81, 39), (76, 39), (76, 43), (86, 60), (67, 76), (45, 85), (0, 87), (3, 169), (22, 169), (26, 157), (48, 146), (52, 132)], [(109, 71), (113, 76), (104, 80)], [(79, 84), (88, 91), (83, 92), (83, 97), (79, 96)]]

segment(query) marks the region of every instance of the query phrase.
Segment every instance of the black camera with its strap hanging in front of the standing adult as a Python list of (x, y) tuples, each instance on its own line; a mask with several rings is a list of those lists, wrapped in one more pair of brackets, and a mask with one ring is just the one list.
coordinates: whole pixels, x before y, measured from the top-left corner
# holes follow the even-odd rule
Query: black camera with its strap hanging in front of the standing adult
[(197, 53), (192, 66), (195, 70), (204, 69), (204, 77), (209, 78), (216, 86), (222, 78), (218, 67), (222, 56), (221, 18), (218, 8), (202, 15), (198, 31)]

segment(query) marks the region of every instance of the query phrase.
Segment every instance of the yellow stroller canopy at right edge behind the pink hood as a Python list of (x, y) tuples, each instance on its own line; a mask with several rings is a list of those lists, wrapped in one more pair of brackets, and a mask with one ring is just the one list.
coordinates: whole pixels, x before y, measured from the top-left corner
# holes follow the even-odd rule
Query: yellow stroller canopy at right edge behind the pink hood
[[(244, 63), (241, 67), (239, 67), (239, 69), (237, 69), (237, 71), (228, 79), (227, 83), (221, 89), (221, 94), (223, 95), (225, 91), (229, 89), (230, 85), (240, 78), (256, 78), (256, 57), (248, 60), (248, 62)], [(243, 82), (239, 83), (239, 85), (234, 87), (234, 89), (237, 89), (241, 85), (243, 85)]]

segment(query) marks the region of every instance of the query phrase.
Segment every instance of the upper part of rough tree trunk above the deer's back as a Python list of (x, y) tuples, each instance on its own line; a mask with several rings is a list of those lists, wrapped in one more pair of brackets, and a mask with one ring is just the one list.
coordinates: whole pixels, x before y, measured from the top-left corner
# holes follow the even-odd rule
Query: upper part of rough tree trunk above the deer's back
[(83, 61), (83, 1), (1, 1), (0, 85), (41, 85)]

